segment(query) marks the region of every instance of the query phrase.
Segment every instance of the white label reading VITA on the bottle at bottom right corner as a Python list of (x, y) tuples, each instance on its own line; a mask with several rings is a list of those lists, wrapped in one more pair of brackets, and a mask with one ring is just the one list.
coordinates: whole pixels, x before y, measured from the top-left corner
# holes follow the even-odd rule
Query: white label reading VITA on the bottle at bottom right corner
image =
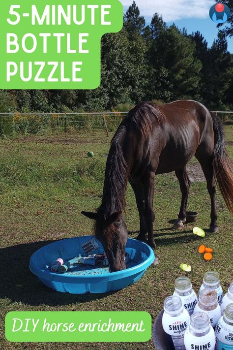
[(233, 350), (233, 325), (224, 322), (223, 317), (216, 325), (215, 335), (217, 338), (216, 350)]

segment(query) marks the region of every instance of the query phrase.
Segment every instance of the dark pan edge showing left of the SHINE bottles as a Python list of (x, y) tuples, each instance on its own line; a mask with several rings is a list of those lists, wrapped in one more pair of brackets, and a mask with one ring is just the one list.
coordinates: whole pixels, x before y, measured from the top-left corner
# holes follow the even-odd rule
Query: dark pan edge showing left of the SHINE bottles
[(163, 330), (162, 317), (164, 310), (160, 311), (153, 326), (153, 341), (156, 350), (175, 350), (171, 335)]

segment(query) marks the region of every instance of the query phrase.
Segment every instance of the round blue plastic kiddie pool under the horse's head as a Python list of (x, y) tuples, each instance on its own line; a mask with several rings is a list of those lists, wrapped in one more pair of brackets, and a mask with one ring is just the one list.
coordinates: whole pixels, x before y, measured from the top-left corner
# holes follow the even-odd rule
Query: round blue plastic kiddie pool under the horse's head
[[(91, 253), (88, 249), (92, 249)], [(154, 261), (152, 249), (138, 240), (129, 238), (125, 251), (129, 254), (129, 261), (123, 271), (110, 273), (108, 267), (76, 264), (64, 274), (51, 272), (51, 265), (59, 257), (65, 261), (79, 254), (104, 254), (102, 244), (94, 236), (68, 238), (38, 249), (30, 258), (29, 269), (46, 286), (61, 292), (106, 293), (139, 281)]]

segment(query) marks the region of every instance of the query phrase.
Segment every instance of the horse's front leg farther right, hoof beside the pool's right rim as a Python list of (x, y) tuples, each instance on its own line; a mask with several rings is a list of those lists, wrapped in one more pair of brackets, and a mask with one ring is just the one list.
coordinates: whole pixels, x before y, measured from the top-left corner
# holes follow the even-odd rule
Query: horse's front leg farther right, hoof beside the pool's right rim
[[(155, 179), (155, 173), (153, 171), (149, 171), (146, 176), (144, 177), (144, 192), (145, 192), (145, 216), (146, 216), (146, 224), (147, 224), (147, 231), (148, 231), (148, 245), (155, 251), (155, 241), (153, 236), (153, 225), (154, 225), (154, 208), (153, 208), (153, 201), (154, 201), (154, 179)], [(158, 264), (158, 258), (157, 255), (154, 252), (154, 262), (152, 265)]]

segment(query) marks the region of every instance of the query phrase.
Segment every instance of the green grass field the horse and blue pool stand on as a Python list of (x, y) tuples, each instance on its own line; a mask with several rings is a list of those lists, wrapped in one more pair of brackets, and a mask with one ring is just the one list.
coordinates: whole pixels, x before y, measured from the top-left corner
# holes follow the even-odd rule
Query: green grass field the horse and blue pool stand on
[[(228, 150), (233, 156), (233, 127), (226, 127)], [(150, 267), (135, 285), (108, 294), (71, 295), (42, 285), (29, 271), (29, 257), (38, 248), (58, 239), (87, 235), (92, 222), (82, 210), (100, 204), (109, 139), (105, 133), (73, 137), (64, 145), (57, 138), (24, 137), (0, 141), (0, 349), (154, 349), (147, 343), (9, 343), (4, 337), (4, 317), (9, 311), (147, 311), (152, 320), (173, 293), (174, 280), (182, 275), (180, 263), (192, 265), (189, 277), (198, 291), (204, 272), (220, 273), (224, 292), (233, 280), (232, 217), (219, 191), (217, 208), (220, 232), (205, 238), (192, 234), (193, 224), (183, 231), (171, 231), (180, 206), (180, 191), (174, 174), (156, 178), (154, 235), (160, 264)], [(95, 157), (87, 159), (87, 151)], [(195, 160), (188, 209), (200, 213), (198, 225), (207, 229), (210, 199)], [(127, 191), (126, 223), (129, 237), (139, 229), (136, 203), (131, 188)], [(212, 261), (204, 261), (197, 249), (201, 243), (214, 249)]]

